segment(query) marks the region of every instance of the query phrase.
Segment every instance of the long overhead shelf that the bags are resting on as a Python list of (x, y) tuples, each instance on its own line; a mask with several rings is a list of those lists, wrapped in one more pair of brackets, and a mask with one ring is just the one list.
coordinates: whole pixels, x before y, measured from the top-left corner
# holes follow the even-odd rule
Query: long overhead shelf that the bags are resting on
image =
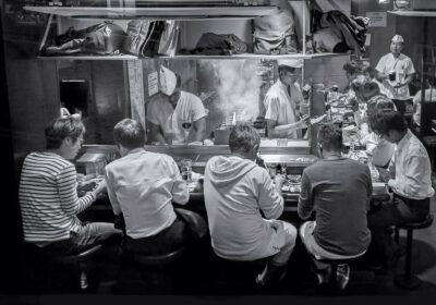
[[(330, 58), (348, 56), (347, 53), (314, 53), (314, 54), (281, 54), (281, 56), (268, 56), (268, 54), (235, 54), (235, 56), (175, 56), (175, 57), (155, 57), (154, 59), (172, 59), (172, 60), (199, 60), (199, 59), (225, 59), (225, 60), (238, 60), (238, 59), (316, 59), (316, 58)], [(39, 56), (38, 59), (44, 60), (141, 60), (148, 58), (140, 58), (131, 54), (118, 54), (118, 56)]]

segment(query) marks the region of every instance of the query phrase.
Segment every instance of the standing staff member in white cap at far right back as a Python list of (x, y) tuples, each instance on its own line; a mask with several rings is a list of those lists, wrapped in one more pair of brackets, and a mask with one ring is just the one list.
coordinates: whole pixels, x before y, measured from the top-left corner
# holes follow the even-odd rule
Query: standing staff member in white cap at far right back
[(404, 40), (396, 35), (390, 42), (390, 53), (380, 58), (375, 70), (378, 80), (387, 89), (387, 96), (396, 105), (401, 114), (405, 112), (405, 101), (410, 101), (409, 83), (412, 82), (415, 69), (412, 60), (401, 53)]

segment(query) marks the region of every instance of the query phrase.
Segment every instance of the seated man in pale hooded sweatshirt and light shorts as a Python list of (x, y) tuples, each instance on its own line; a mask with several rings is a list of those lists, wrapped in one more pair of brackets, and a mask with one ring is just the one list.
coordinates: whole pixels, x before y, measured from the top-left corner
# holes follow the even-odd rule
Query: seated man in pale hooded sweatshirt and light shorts
[(214, 252), (239, 261), (270, 257), (256, 278), (264, 285), (283, 278), (296, 229), (277, 220), (283, 211), (284, 178), (276, 175), (275, 185), (255, 163), (259, 143), (255, 129), (235, 125), (229, 136), (231, 156), (213, 157), (206, 164), (204, 194)]

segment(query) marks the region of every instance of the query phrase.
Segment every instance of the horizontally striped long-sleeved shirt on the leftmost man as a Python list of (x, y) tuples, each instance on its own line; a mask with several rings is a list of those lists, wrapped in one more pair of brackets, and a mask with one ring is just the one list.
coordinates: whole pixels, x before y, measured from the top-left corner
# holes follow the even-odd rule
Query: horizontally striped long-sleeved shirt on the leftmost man
[(76, 217), (96, 199), (93, 193), (77, 197), (75, 167), (55, 152), (32, 152), (23, 163), (20, 207), (24, 240), (44, 245), (81, 232)]

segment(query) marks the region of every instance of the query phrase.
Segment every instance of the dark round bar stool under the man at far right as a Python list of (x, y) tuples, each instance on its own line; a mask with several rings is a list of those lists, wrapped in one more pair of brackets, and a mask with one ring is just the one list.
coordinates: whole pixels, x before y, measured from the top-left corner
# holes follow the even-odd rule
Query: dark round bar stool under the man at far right
[(405, 264), (404, 273), (397, 274), (393, 278), (393, 282), (405, 289), (416, 289), (421, 285), (421, 280), (412, 274), (412, 242), (413, 242), (413, 230), (425, 229), (432, 225), (433, 215), (427, 215), (427, 217), (421, 222), (410, 222), (404, 224), (399, 224), (395, 229), (395, 241), (399, 244), (400, 229), (408, 230), (407, 241), (405, 241)]

